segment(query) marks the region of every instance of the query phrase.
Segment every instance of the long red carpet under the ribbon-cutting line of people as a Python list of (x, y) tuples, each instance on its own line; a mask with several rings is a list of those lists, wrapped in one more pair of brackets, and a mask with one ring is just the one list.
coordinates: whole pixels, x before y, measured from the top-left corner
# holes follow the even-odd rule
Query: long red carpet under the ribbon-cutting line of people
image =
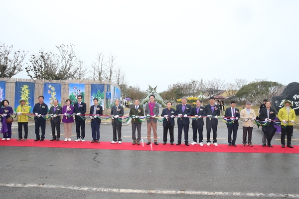
[[(111, 144), (110, 142), (101, 142), (98, 143), (90, 143), (90, 141), (85, 142), (65, 142), (61, 140), (57, 141), (50, 141), (44, 140), (42, 142), (37, 141), (34, 142), (32, 140), (27, 141), (16, 141), (16, 139), (11, 139), (9, 141), (0, 140), (0, 146), (20, 146), (20, 147), (50, 147), (50, 148), (76, 148), (76, 149), (108, 149), (108, 150), (142, 150), (142, 151), (150, 151), (150, 145), (142, 143), (140, 145), (133, 145), (132, 142), (123, 142), (122, 144)], [(254, 145), (253, 147), (249, 146), (242, 146), (241, 144), (234, 146), (228, 146), (227, 144), (219, 144), (218, 146), (210, 145), (204, 146), (197, 145), (190, 145), (186, 146), (181, 144), (179, 146), (170, 145), (167, 143), (163, 145), (159, 143), (158, 146), (152, 144), (152, 151), (177, 151), (177, 152), (221, 152), (221, 153), (299, 153), (299, 146), (294, 146), (293, 149), (282, 148), (281, 145), (273, 145), (273, 148), (269, 148), (268, 146), (262, 147), (262, 145)]]

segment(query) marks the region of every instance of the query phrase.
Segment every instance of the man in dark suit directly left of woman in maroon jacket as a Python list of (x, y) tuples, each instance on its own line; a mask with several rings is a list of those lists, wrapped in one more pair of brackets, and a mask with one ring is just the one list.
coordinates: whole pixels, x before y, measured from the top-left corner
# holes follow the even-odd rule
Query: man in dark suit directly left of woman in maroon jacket
[[(61, 114), (62, 107), (58, 105), (58, 100), (53, 100), (53, 106), (50, 107), (49, 114), (51, 115), (50, 123), (52, 129), (52, 139), (50, 141), (60, 139), (60, 122), (61, 122)], [(57, 136), (55, 135), (55, 128), (57, 131)]]

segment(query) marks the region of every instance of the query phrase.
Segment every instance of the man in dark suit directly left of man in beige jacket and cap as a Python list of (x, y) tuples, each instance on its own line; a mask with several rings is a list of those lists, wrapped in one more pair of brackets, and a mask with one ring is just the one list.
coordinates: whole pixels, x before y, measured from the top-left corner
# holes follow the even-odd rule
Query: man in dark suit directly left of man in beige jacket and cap
[[(230, 119), (227, 120), (227, 131), (228, 131), (228, 146), (237, 146), (236, 145), (236, 139), (237, 139), (237, 131), (239, 128), (239, 121), (240, 118), (240, 111), (238, 108), (236, 108), (236, 101), (231, 100), (231, 107), (225, 109), (224, 113), (225, 117), (230, 117)], [(233, 119), (235, 119), (233, 121)], [(232, 123), (230, 123), (233, 121)], [(229, 124), (230, 123), (230, 124)], [(232, 133), (233, 133), (233, 140), (232, 140)]]

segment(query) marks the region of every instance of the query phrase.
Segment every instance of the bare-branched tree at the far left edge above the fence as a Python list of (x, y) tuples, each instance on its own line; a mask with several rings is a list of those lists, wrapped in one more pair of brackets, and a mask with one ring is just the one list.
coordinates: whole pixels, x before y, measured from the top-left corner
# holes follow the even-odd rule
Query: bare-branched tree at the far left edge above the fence
[[(25, 51), (14, 51), (11, 53), (13, 46), (5, 46), (0, 43), (0, 77), (11, 78), (20, 71), (24, 65), (23, 61), (27, 53)], [(12, 54), (12, 55), (11, 55)]]

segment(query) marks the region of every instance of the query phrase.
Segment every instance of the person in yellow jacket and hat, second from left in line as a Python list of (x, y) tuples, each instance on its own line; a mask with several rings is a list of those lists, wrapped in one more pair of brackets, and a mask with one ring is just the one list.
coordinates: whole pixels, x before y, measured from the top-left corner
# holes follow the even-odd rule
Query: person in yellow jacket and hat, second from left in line
[(23, 141), (27, 140), (28, 137), (28, 116), (26, 114), (29, 113), (30, 107), (26, 104), (27, 100), (21, 99), (19, 100), (20, 105), (17, 106), (16, 112), (17, 112), (17, 131), (18, 131), (18, 139), (16, 141), (22, 140), (22, 126), (24, 126), (24, 139)]

